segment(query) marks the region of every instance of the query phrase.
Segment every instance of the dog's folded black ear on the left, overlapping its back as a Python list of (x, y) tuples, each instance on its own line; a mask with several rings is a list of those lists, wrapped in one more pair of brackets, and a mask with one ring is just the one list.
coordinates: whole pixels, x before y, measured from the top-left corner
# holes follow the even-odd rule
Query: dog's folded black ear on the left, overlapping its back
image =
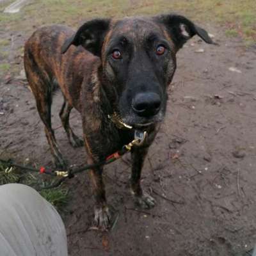
[(70, 45), (82, 45), (87, 51), (100, 56), (109, 23), (110, 19), (95, 19), (84, 23), (74, 35), (65, 41), (61, 47), (61, 53), (65, 53)]

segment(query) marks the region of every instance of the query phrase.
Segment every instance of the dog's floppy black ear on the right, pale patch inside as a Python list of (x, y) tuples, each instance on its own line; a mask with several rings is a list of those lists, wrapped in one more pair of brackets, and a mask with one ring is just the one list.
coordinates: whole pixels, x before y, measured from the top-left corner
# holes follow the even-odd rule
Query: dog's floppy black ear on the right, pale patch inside
[(168, 14), (156, 16), (154, 19), (166, 27), (178, 49), (195, 35), (200, 36), (207, 44), (215, 44), (205, 29), (196, 26), (191, 20), (184, 16)]

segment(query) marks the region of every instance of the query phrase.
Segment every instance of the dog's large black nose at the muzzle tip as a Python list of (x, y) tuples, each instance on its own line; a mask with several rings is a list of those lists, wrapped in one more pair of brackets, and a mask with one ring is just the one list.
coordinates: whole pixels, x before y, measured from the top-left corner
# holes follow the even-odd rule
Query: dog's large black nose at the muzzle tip
[(160, 96), (154, 92), (138, 93), (132, 100), (132, 109), (139, 116), (150, 117), (159, 112)]

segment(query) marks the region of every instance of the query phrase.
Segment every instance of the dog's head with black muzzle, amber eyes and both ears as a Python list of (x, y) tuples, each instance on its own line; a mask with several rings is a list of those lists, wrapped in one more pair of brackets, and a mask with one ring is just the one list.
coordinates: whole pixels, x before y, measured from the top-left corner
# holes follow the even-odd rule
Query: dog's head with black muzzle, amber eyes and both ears
[(62, 52), (82, 45), (99, 56), (115, 111), (126, 124), (143, 127), (163, 120), (175, 54), (194, 35), (213, 44), (204, 29), (180, 15), (95, 19), (68, 38)]

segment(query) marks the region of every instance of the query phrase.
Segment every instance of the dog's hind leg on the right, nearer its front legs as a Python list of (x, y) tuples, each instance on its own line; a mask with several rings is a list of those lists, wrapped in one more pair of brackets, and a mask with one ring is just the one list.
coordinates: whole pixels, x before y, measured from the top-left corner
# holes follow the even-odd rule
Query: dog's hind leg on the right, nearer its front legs
[(72, 147), (76, 148), (76, 147), (83, 146), (84, 143), (83, 143), (83, 140), (78, 138), (76, 136), (76, 134), (74, 134), (74, 132), (70, 128), (69, 115), (70, 115), (71, 109), (72, 109), (72, 106), (70, 106), (70, 104), (68, 104), (67, 100), (64, 99), (64, 102), (63, 102), (63, 105), (62, 105), (61, 111), (60, 111), (61, 123), (67, 133), (68, 141), (70, 142)]

